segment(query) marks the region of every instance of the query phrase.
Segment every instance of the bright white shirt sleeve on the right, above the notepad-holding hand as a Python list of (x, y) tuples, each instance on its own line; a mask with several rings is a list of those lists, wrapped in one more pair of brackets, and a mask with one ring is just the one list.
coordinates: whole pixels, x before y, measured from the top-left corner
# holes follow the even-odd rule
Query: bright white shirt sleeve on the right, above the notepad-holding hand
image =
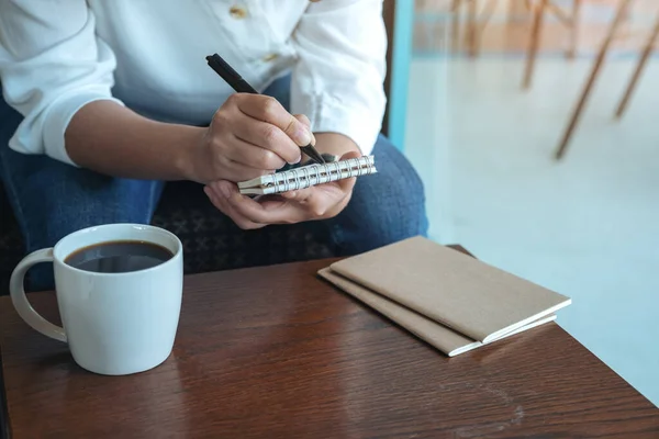
[(293, 34), (299, 61), (292, 71), (291, 112), (312, 130), (350, 137), (372, 151), (387, 99), (387, 32), (382, 0), (311, 3)]

